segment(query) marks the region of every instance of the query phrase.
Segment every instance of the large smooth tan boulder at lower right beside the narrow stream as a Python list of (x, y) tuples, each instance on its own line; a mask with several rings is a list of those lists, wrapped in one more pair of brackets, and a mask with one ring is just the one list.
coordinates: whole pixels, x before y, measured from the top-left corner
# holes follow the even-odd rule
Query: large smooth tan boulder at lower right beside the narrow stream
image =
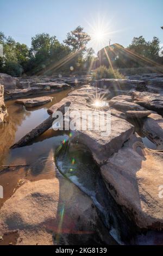
[(143, 148), (141, 138), (133, 135), (101, 167), (109, 192), (140, 228), (163, 228), (162, 166), (163, 153)]

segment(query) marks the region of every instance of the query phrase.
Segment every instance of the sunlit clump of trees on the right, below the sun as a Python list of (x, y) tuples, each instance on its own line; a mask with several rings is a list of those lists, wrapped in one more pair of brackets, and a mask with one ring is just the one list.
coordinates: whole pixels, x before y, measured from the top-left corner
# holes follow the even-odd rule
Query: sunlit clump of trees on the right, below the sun
[(110, 65), (115, 69), (131, 69), (163, 64), (163, 48), (161, 50), (160, 40), (155, 36), (152, 41), (146, 41), (143, 36), (134, 37), (127, 48), (119, 44), (106, 46), (97, 55), (97, 66), (103, 65), (107, 68)]

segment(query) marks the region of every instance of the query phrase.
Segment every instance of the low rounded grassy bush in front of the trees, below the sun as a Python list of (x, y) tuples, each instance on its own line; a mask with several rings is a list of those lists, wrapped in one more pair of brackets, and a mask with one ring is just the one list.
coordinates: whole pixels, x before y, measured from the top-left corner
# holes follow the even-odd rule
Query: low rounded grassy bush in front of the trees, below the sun
[(107, 69), (105, 66), (99, 66), (99, 68), (93, 71), (93, 79), (101, 78), (124, 78), (124, 76), (116, 69), (112, 70), (111, 68)]

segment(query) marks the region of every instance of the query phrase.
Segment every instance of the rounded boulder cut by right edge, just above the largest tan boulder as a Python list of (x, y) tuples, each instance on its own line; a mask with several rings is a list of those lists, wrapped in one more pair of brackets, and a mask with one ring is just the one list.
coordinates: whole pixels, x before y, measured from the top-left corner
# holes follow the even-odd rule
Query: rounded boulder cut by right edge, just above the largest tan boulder
[(163, 118), (161, 115), (152, 113), (143, 123), (143, 133), (156, 145), (157, 149), (163, 149)]

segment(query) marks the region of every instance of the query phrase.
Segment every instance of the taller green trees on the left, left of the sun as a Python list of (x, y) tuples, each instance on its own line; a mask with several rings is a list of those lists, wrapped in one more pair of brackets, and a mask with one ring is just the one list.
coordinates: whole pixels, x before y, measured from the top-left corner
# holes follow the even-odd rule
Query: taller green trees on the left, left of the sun
[(90, 36), (78, 26), (60, 43), (56, 36), (42, 33), (32, 37), (31, 47), (16, 42), (11, 36), (0, 32), (3, 56), (0, 57), (0, 72), (21, 76), (53, 75), (57, 72), (86, 72), (94, 51), (87, 48)]

